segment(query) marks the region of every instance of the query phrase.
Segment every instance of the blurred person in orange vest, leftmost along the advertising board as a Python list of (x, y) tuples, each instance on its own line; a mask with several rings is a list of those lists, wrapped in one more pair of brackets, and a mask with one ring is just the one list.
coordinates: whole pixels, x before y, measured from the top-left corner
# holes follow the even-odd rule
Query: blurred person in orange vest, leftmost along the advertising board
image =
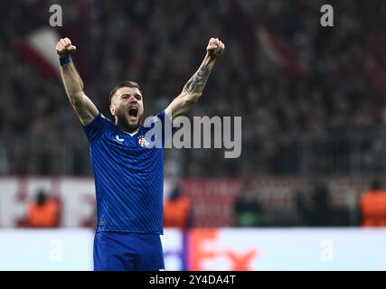
[(38, 191), (36, 199), (28, 207), (27, 225), (33, 228), (55, 228), (59, 226), (59, 201)]

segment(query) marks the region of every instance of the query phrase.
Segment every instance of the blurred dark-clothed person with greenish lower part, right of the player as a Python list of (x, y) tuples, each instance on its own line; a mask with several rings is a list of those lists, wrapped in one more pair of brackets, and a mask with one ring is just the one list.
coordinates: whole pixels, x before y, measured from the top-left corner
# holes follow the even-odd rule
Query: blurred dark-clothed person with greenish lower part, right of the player
[(253, 227), (261, 224), (262, 209), (253, 194), (249, 182), (244, 184), (233, 205), (234, 225), (238, 227)]

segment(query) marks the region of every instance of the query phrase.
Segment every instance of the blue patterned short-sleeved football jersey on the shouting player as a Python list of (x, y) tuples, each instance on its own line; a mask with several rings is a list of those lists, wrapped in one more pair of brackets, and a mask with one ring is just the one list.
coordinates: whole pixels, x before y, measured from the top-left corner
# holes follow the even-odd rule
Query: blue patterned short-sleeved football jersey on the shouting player
[[(157, 117), (164, 128), (165, 110)], [(83, 129), (95, 179), (97, 232), (163, 234), (164, 148), (147, 145), (151, 127), (129, 135), (99, 114)]]

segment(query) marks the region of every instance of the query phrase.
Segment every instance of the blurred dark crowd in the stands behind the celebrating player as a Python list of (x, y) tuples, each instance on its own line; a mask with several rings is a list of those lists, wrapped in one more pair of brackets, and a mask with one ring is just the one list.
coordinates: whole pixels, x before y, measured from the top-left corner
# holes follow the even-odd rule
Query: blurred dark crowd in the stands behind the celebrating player
[[(385, 168), (383, 1), (334, 1), (334, 27), (322, 27), (323, 1), (5, 0), (2, 174), (90, 173), (86, 137), (60, 79), (45, 78), (14, 49), (33, 30), (49, 26), (52, 4), (63, 13), (63, 26), (54, 29), (78, 47), (74, 61), (85, 91), (106, 117), (108, 92), (123, 79), (140, 83), (146, 115), (155, 115), (198, 68), (208, 39), (224, 40), (226, 52), (191, 117), (241, 116), (241, 156), (224, 159), (221, 149), (172, 150), (172, 172), (330, 172), (332, 166), (321, 165), (317, 156), (327, 162), (326, 156), (348, 154), (352, 147), (362, 161), (353, 167), (344, 159), (338, 169)], [(67, 171), (59, 144), (71, 147)]]

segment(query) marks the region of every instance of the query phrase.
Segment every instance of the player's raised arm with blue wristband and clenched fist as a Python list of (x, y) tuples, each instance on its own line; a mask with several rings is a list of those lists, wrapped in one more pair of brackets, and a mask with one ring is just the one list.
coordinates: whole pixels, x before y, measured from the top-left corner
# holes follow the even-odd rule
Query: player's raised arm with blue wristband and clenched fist
[(56, 44), (56, 52), (61, 61), (61, 79), (67, 96), (80, 118), (81, 124), (87, 126), (98, 116), (99, 111), (83, 92), (83, 81), (80, 79), (80, 75), (71, 61), (71, 53), (73, 51), (76, 51), (76, 47), (71, 44), (68, 38), (61, 39)]

